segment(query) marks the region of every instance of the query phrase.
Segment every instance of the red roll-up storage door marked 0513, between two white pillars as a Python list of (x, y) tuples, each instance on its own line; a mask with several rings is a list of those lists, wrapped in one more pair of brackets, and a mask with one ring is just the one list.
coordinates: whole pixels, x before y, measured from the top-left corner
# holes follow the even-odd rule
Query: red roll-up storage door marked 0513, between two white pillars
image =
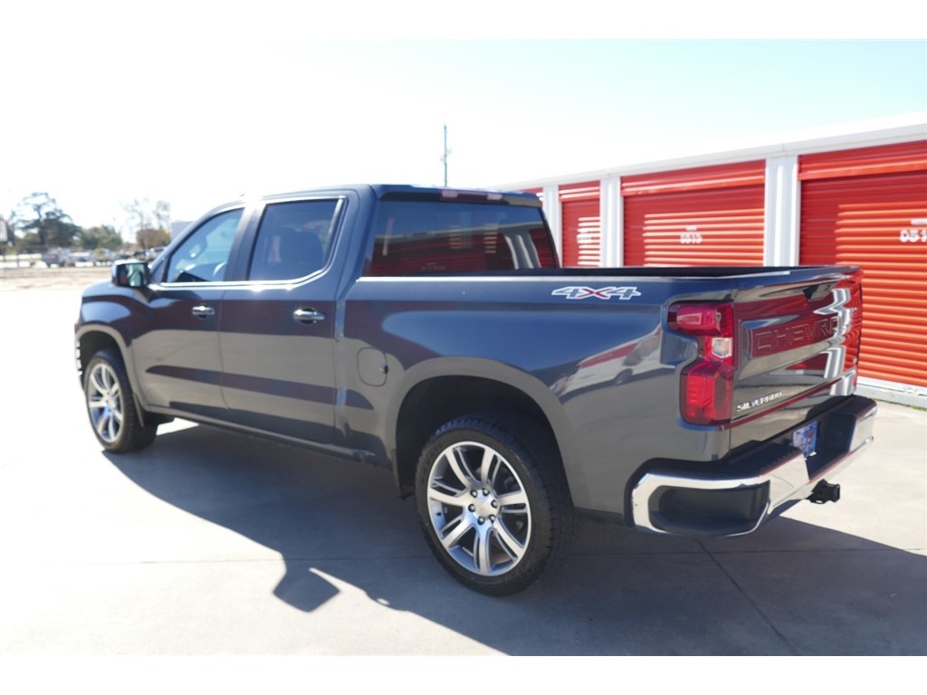
[(622, 177), (625, 265), (763, 264), (766, 162)]

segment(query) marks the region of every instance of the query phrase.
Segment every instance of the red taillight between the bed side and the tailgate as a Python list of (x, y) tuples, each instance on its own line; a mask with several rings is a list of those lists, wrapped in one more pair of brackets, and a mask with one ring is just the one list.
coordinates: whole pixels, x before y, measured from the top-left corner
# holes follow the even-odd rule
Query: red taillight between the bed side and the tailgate
[(698, 360), (682, 370), (682, 419), (693, 424), (730, 423), (737, 355), (733, 307), (677, 304), (669, 310), (669, 325), (698, 341)]

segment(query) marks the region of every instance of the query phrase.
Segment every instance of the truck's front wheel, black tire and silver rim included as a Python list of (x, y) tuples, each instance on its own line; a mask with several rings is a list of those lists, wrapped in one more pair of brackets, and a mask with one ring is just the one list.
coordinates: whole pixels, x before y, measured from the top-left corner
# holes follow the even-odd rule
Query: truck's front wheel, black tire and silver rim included
[(87, 364), (83, 396), (90, 426), (104, 449), (137, 451), (155, 440), (158, 425), (146, 426), (139, 420), (125, 366), (112, 350), (100, 350)]

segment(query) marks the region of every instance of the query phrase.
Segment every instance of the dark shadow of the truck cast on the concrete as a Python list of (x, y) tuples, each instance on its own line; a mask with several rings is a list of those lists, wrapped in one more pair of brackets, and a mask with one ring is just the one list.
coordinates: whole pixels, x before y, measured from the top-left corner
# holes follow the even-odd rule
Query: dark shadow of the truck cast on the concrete
[[(157, 498), (279, 552), (286, 575), (268, 590), (299, 611), (356, 594), (366, 624), (345, 629), (359, 635), (387, 607), (508, 654), (927, 653), (927, 558), (787, 518), (712, 541), (582, 522), (564, 567), (491, 599), (439, 567), (387, 470), (199, 426), (108, 459)], [(383, 641), (395, 646), (381, 653), (454, 653)]]

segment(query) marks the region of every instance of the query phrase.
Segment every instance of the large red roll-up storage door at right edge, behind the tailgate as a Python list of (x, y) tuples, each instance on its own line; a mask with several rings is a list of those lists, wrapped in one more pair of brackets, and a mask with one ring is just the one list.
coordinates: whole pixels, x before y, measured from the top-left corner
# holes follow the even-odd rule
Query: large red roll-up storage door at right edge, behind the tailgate
[(799, 158), (803, 265), (865, 272), (859, 373), (927, 386), (927, 141)]

